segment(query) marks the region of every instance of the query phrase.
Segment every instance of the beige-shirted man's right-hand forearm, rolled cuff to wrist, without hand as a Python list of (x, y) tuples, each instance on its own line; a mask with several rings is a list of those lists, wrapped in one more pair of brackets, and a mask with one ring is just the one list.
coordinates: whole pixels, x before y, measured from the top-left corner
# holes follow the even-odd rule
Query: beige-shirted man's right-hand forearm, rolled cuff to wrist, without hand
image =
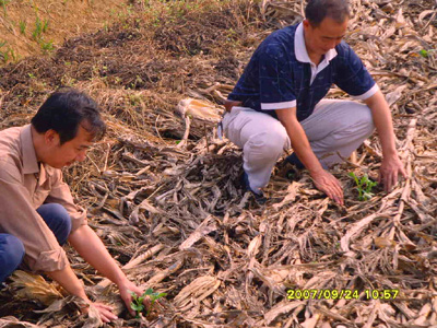
[(74, 231), (70, 235), (69, 242), (91, 266), (110, 281), (118, 285), (127, 281), (126, 274), (88, 225), (82, 225)]

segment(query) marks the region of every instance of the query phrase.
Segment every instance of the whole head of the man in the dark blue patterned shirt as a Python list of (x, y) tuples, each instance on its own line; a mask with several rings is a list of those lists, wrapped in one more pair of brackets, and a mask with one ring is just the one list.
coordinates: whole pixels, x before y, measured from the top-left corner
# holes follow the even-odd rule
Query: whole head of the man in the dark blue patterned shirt
[(321, 56), (341, 43), (351, 13), (347, 0), (309, 0), (305, 16), (307, 50)]

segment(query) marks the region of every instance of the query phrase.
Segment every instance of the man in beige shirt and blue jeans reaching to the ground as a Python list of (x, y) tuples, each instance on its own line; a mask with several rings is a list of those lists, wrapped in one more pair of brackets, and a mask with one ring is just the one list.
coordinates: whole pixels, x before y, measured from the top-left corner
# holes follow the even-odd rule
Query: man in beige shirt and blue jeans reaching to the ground
[(91, 302), (61, 245), (67, 241), (119, 288), (142, 294), (110, 257), (75, 206), (60, 168), (85, 160), (106, 126), (97, 104), (76, 90), (59, 91), (38, 109), (32, 125), (0, 131), (0, 283), (20, 265), (56, 280), (69, 293), (95, 306), (108, 323), (111, 308)]

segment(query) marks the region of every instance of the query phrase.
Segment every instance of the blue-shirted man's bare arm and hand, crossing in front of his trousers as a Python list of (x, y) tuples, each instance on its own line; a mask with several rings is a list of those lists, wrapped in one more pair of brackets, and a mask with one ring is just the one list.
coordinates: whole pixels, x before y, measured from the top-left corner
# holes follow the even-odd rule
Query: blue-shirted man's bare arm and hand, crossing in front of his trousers
[(316, 187), (328, 195), (335, 202), (343, 204), (343, 189), (340, 181), (329, 172), (323, 169), (319, 160), (315, 155), (309, 144), (304, 128), (296, 117), (296, 107), (276, 109), (279, 120), (285, 127), (285, 130), (292, 142), (293, 150), (296, 152), (300, 162), (309, 171)]

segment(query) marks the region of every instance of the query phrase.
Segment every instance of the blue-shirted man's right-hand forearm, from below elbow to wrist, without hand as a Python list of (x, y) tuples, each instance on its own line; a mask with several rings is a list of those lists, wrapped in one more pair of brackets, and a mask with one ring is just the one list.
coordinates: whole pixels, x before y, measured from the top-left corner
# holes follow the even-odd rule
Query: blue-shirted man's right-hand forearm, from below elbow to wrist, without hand
[(374, 124), (382, 147), (382, 155), (385, 157), (397, 155), (391, 113), (382, 93), (378, 91), (365, 103), (371, 110)]

